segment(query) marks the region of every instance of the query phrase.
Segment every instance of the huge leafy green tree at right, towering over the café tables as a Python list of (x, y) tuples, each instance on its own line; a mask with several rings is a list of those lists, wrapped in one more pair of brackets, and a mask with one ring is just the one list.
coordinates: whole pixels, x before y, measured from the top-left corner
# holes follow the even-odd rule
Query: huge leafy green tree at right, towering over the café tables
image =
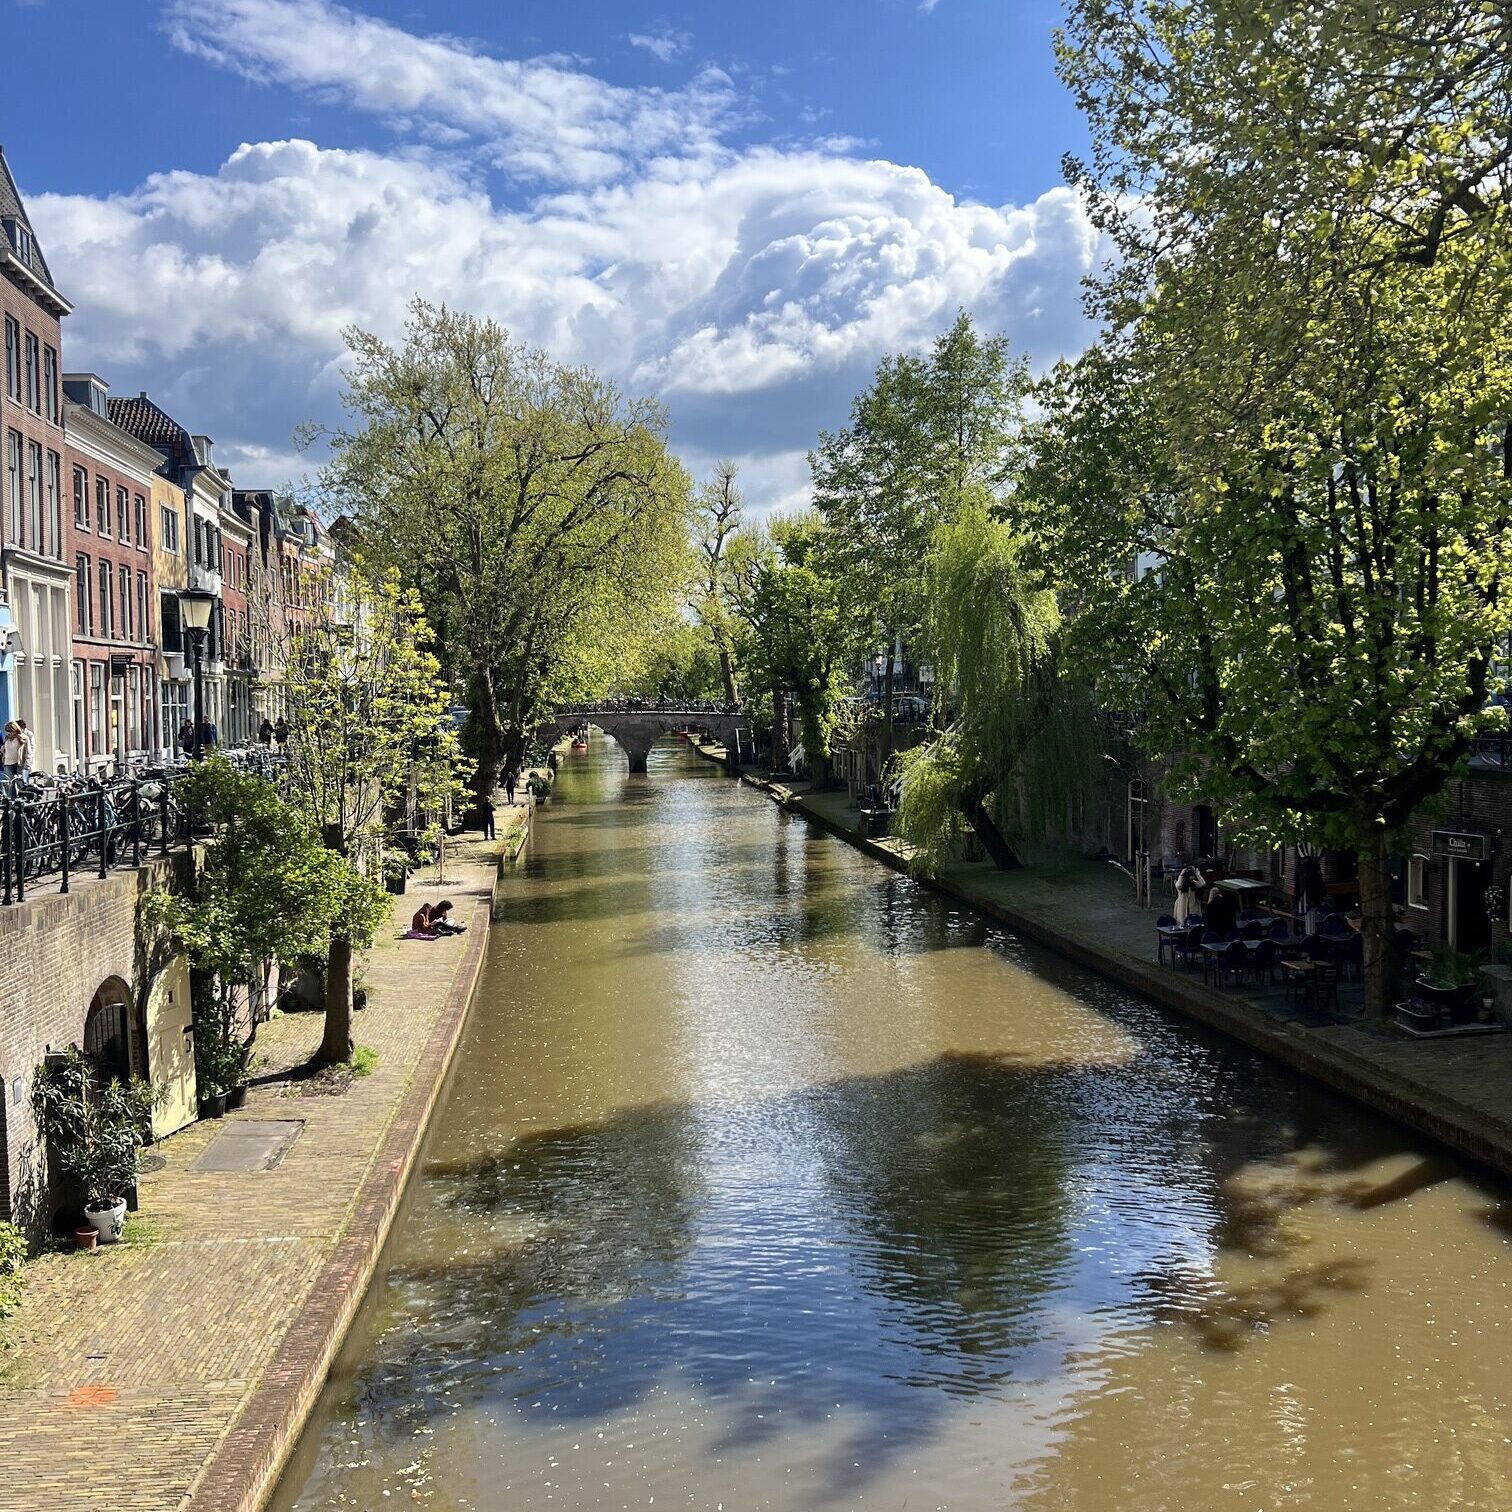
[(1025, 494), (1175, 791), (1358, 853), (1377, 1012), (1393, 836), (1488, 718), (1512, 627), (1507, 29), (1075, 0), (1061, 44), (1095, 144), (1072, 175), (1122, 265)]

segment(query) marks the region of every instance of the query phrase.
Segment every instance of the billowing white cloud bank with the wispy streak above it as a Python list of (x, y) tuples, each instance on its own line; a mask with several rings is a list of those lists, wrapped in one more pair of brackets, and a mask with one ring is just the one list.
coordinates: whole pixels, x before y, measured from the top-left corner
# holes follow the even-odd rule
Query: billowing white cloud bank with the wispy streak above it
[[(1087, 339), (1080, 281), (1099, 242), (1066, 189), (983, 206), (919, 169), (833, 145), (736, 150), (708, 136), (685, 153), (617, 147), (614, 171), (600, 175), (582, 171), (585, 139), (556, 154), (534, 201), (503, 206), (472, 153), (438, 145), (429, 129), (475, 133), (461, 124), (472, 112), (491, 122), (490, 150), (511, 153), (529, 133), (500, 125), (502, 106), (451, 103), (443, 113), (420, 98), (413, 60), (393, 56), (405, 33), (314, 0), (184, 0), (177, 15), (186, 24), (212, 9), (243, 68), (253, 41), (263, 59), (277, 48), (263, 32), (231, 48), (236, 17), (249, 26), (298, 11), (354, 27), (345, 51), (330, 38), (307, 47), (328, 83), (304, 83), (360, 94), (373, 109), (387, 101), (381, 109), (404, 115), (416, 144), (256, 142), (215, 172), (163, 172), (109, 198), (32, 197), (76, 305), (68, 364), (103, 372), (116, 392), (162, 395), (216, 437), (242, 482), (277, 484), (301, 469), (289, 435), (301, 420), (337, 419), (342, 330), (395, 337), (416, 293), (665, 393), (689, 464), (741, 458), (758, 507), (800, 502), (816, 429), (844, 420), (883, 352), (922, 346), (957, 308), (1040, 363)], [(363, 51), (358, 41), (375, 36), (383, 50)], [(408, 41), (448, 56), (461, 48)], [(292, 74), (295, 62), (278, 67)], [(585, 80), (585, 97), (608, 88), (572, 77)], [(705, 119), (697, 103), (680, 107)], [(578, 103), (564, 109), (585, 119)], [(617, 119), (643, 119), (640, 106)]]

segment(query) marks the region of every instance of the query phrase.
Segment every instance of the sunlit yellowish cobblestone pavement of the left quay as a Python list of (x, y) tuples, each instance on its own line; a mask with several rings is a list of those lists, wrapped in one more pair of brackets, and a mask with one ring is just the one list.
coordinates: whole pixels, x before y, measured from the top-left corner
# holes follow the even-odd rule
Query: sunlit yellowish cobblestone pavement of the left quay
[[(508, 833), (505, 813), (499, 820)], [(467, 838), (451, 853), (445, 886), (422, 874), (398, 900), (360, 978), (369, 1007), (355, 1016), (354, 1037), (378, 1052), (370, 1077), (340, 1096), (286, 1095), (287, 1072), (319, 1045), (321, 1015), (274, 1019), (257, 1036), (266, 1064), (246, 1105), (156, 1146), (166, 1166), (142, 1179), (141, 1214), (127, 1226), (135, 1241), (29, 1267), (8, 1329), (12, 1347), (0, 1356), (5, 1512), (180, 1507), (233, 1424), (257, 1405), (275, 1359), (287, 1364), (301, 1352), (289, 1349), (290, 1331), (322, 1273), (330, 1279), (343, 1238), (352, 1243), (354, 1213), (363, 1204), (380, 1211), (392, 1198), (423, 1132), (428, 1102), (416, 1120), (411, 1086), (417, 1069), (434, 1077), (445, 1063), (454, 1031), (448, 1005), (482, 945), (475, 933), (396, 934), (420, 898), (443, 894), (457, 904), (454, 916), (487, 931), (496, 854), (496, 842)], [(246, 1119), (298, 1122), (275, 1169), (192, 1169), (224, 1126)], [(364, 1284), (372, 1258), (370, 1244), (357, 1247), (345, 1272), (351, 1290)], [(236, 1482), (234, 1465), (216, 1468), (222, 1482)], [(236, 1503), (218, 1492), (213, 1504), (219, 1512)]]

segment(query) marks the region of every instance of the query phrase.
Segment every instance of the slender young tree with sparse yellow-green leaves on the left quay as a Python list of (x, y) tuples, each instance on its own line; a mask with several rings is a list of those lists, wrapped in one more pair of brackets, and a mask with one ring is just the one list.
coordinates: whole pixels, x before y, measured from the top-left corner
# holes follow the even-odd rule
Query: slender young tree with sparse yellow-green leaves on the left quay
[(299, 631), (287, 670), (287, 783), (295, 806), (342, 866), (325, 950), (325, 1034), (318, 1064), (352, 1052), (352, 956), (387, 918), (373, 880), (386, 816), (437, 815), (458, 789), (449, 699), (419, 596), (390, 572), (345, 582), (345, 618)]

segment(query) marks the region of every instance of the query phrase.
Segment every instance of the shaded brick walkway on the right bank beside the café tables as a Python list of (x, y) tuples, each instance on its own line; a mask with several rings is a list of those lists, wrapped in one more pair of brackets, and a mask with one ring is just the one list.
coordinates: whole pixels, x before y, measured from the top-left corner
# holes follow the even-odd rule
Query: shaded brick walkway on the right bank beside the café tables
[[(703, 754), (714, 761), (724, 756), (720, 747), (703, 747)], [(857, 813), (844, 792), (756, 785), (877, 860), (907, 866), (906, 842), (857, 835)], [(1414, 1040), (1391, 1025), (1349, 1015), (1347, 996), (1347, 1022), (1309, 1024), (1284, 1010), (1279, 992), (1205, 987), (1201, 974), (1157, 965), (1155, 915), (1161, 910), (1137, 909), (1132, 883), (1107, 865), (1060, 859), (999, 872), (963, 862), (945, 868), (937, 886), (1010, 928), (1512, 1175), (1512, 1033)]]

